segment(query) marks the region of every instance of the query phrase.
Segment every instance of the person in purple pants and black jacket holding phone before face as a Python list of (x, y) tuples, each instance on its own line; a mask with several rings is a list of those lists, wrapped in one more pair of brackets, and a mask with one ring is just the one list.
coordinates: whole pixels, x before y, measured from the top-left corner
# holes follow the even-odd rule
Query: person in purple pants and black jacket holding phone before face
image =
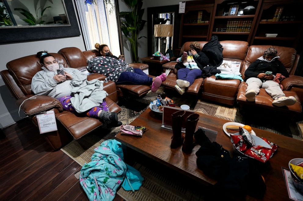
[(175, 88), (182, 95), (185, 92), (185, 87), (189, 87), (194, 83), (196, 78), (201, 77), (202, 69), (208, 64), (209, 59), (203, 52), (200, 51), (200, 43), (193, 42), (189, 45), (187, 58), (182, 55), (177, 61), (182, 62), (176, 65), (177, 85)]

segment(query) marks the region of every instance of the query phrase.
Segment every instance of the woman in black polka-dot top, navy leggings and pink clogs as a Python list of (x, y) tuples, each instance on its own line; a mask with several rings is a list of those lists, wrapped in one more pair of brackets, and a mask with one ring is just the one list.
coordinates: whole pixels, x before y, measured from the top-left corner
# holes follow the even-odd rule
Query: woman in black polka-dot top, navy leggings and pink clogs
[(111, 53), (106, 44), (95, 44), (101, 57), (95, 57), (88, 62), (87, 70), (105, 75), (108, 80), (123, 85), (152, 85), (152, 92), (156, 92), (162, 82), (166, 80), (166, 74), (151, 78), (140, 68), (132, 68), (124, 60), (124, 56), (116, 57)]

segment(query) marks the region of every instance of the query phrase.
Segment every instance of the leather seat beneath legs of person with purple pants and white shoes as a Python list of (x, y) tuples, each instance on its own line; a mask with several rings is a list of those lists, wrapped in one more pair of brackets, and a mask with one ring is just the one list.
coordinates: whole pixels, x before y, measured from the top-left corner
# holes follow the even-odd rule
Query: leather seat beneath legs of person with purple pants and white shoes
[[(176, 80), (177, 80), (177, 75), (174, 73), (170, 73), (166, 77), (166, 80), (162, 82), (162, 85), (170, 89), (176, 90), (174, 87), (177, 84)], [(202, 83), (203, 83), (203, 78), (195, 79), (194, 83), (192, 83), (192, 85), (190, 85), (188, 88), (185, 89), (185, 92), (189, 94), (197, 95), (201, 88)]]

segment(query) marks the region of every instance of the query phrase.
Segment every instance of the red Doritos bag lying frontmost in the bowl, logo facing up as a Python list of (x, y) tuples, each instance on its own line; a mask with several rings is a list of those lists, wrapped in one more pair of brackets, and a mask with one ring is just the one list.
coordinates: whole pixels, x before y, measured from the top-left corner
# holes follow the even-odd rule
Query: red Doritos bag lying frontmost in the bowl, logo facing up
[(272, 149), (262, 146), (254, 146), (247, 149), (244, 154), (265, 163), (272, 155)]

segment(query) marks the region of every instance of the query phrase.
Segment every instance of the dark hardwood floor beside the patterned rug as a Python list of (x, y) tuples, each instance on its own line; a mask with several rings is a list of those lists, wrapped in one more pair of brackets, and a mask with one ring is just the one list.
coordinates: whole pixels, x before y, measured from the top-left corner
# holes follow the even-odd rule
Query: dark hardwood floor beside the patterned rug
[[(29, 119), (3, 130), (0, 200), (88, 200), (74, 174), (81, 166), (53, 151)], [(115, 201), (122, 201), (116, 195)]]

